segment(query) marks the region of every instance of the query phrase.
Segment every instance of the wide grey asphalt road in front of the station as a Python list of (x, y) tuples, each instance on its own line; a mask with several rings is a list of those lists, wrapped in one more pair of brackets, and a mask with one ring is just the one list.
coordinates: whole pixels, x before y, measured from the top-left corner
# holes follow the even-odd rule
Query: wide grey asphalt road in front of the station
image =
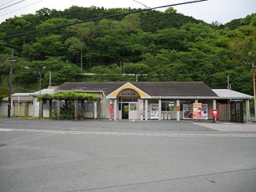
[(253, 192), (256, 135), (189, 122), (0, 119), (0, 191)]

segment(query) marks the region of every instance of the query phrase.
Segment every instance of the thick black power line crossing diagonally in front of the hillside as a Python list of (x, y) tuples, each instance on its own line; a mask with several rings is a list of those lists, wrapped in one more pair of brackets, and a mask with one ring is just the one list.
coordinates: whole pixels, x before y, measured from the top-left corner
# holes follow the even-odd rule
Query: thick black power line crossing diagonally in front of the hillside
[[(25, 1), (25, 0), (23, 0), (23, 1)], [(165, 8), (165, 7), (169, 7), (169, 6), (181, 6), (181, 5), (191, 4), (191, 3), (195, 3), (195, 2), (206, 2), (206, 1), (208, 1), (208, 0), (198, 0), (198, 1), (193, 1), (193, 2), (180, 2), (180, 3), (167, 5), (167, 6), (157, 6), (157, 7), (153, 7), (153, 8), (149, 8), (149, 9), (145, 9), (145, 10), (134, 10), (134, 11), (130, 11), (130, 12), (127, 12), (127, 13), (122, 13), (122, 14), (111, 14), (111, 15), (108, 15), (108, 16), (99, 17), (99, 18), (91, 18), (91, 19), (88, 19), (88, 20), (80, 21), (80, 22), (71, 22), (71, 23), (68, 23), (68, 24), (65, 24), (65, 25), (62, 25), (62, 26), (49, 27), (49, 28), (42, 29), (42, 30), (31, 30), (31, 31), (21, 33), (21, 34), (11, 34), (11, 35), (8, 35), (6, 37), (0, 37), (0, 39), (14, 38), (14, 37), (23, 36), (23, 35), (26, 35), (26, 34), (34, 34), (34, 33), (37, 33), (37, 32), (42, 32), (42, 31), (46, 31), (46, 30), (55, 30), (55, 29), (62, 28), (62, 27), (65, 27), (65, 26), (77, 25), (77, 24), (80, 24), (80, 23), (83, 23), (83, 22), (94, 22), (94, 21), (102, 20), (103, 18), (114, 18), (114, 17), (118, 17), (118, 16), (122, 16), (122, 15), (136, 14), (136, 13), (140, 13), (140, 12), (148, 11), (148, 10), (157, 10), (157, 9), (161, 9), (161, 8)]]

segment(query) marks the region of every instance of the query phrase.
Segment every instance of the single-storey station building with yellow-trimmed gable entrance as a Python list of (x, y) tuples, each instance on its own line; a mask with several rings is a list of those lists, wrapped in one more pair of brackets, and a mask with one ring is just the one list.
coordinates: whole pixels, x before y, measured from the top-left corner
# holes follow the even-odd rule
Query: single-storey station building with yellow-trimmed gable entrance
[(85, 110), (87, 115), (113, 120), (193, 119), (193, 104), (201, 103), (202, 120), (211, 119), (210, 111), (217, 109), (220, 121), (244, 122), (250, 119), (253, 98), (234, 90), (212, 90), (203, 82), (65, 82), (54, 92), (70, 90), (97, 94), (101, 102)]

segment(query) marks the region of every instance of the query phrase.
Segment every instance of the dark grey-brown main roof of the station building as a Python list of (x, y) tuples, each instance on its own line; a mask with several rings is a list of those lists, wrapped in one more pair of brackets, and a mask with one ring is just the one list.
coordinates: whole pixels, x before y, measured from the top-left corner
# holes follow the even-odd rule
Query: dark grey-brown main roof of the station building
[[(102, 91), (108, 95), (118, 90), (127, 82), (65, 82), (55, 92), (70, 91)], [(183, 97), (218, 97), (203, 82), (130, 82), (150, 96), (183, 96)]]

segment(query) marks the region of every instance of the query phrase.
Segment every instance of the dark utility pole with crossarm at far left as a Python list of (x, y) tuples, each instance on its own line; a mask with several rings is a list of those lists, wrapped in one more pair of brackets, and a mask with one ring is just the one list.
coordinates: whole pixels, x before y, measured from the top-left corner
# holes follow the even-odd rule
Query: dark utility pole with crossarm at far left
[(8, 90), (8, 110), (7, 117), (10, 118), (10, 110), (11, 110), (11, 94), (13, 93), (13, 71), (14, 71), (14, 50), (11, 50), (10, 59), (6, 59), (7, 62), (10, 62), (10, 74), (9, 74), (9, 90)]

